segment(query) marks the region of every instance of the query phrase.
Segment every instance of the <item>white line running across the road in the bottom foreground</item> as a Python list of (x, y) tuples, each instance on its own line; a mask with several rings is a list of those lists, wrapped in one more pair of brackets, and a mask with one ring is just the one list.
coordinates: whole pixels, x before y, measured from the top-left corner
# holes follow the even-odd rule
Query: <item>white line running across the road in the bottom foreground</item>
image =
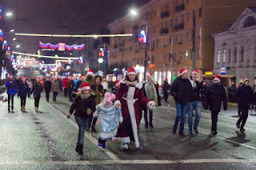
[(3, 164), (47, 164), (47, 165), (98, 165), (98, 164), (205, 164), (205, 163), (253, 163), (256, 159), (199, 159), (199, 160), (82, 160), (82, 161), (40, 161), (23, 160), (0, 162)]

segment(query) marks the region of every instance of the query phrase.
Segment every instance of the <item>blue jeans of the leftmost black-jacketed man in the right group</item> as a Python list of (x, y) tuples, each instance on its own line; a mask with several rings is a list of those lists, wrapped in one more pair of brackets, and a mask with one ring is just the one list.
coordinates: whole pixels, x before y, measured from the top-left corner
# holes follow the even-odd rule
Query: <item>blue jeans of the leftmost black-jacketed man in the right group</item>
[(174, 129), (176, 130), (178, 127), (178, 122), (181, 120), (181, 123), (179, 125), (179, 132), (184, 131), (184, 123), (185, 123), (185, 118), (186, 118), (186, 111), (188, 109), (188, 104), (181, 104), (181, 103), (176, 103), (176, 110), (177, 110), (177, 115), (175, 118), (174, 122)]

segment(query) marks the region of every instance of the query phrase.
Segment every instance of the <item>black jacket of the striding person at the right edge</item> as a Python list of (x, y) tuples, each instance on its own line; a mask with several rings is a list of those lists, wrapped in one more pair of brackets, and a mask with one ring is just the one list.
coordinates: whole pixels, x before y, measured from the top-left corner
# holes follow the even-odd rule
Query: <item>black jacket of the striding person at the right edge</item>
[(250, 86), (242, 85), (237, 91), (238, 108), (249, 109), (249, 104), (254, 104), (254, 91)]

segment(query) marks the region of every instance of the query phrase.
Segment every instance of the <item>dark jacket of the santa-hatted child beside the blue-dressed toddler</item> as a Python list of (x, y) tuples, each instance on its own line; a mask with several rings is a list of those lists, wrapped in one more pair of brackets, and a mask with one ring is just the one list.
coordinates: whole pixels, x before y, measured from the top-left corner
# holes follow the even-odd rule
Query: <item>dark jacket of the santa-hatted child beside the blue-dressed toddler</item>
[(90, 118), (90, 114), (87, 114), (87, 109), (91, 109), (91, 113), (95, 112), (95, 99), (94, 96), (82, 99), (80, 96), (76, 97), (70, 108), (70, 113), (74, 113), (76, 117)]

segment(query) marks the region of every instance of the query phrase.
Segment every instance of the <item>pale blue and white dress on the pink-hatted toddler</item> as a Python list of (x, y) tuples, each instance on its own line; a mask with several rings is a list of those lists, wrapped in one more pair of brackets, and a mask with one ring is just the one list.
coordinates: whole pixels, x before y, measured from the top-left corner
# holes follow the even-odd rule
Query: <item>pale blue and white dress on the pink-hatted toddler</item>
[(122, 123), (121, 107), (115, 109), (114, 105), (106, 106), (101, 103), (96, 106), (95, 114), (98, 115), (100, 126), (98, 138), (106, 140), (116, 136), (119, 122)]

